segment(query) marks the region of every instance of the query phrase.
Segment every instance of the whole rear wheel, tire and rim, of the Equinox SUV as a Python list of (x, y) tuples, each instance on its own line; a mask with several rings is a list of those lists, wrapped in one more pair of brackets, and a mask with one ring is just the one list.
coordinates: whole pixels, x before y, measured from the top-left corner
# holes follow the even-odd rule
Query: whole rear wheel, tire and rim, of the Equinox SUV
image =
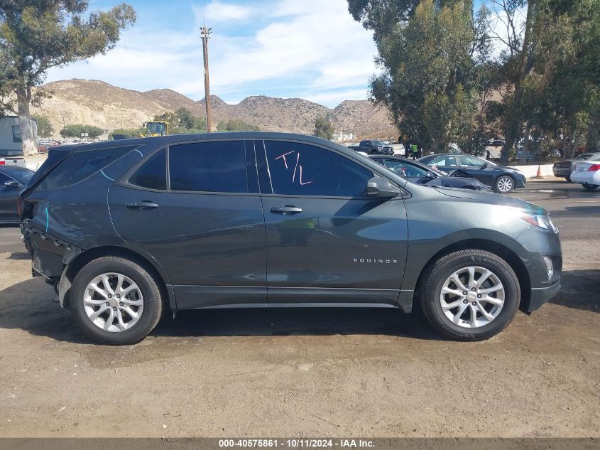
[(73, 280), (71, 312), (92, 339), (113, 345), (141, 341), (158, 323), (160, 289), (146, 269), (121, 257), (86, 264)]

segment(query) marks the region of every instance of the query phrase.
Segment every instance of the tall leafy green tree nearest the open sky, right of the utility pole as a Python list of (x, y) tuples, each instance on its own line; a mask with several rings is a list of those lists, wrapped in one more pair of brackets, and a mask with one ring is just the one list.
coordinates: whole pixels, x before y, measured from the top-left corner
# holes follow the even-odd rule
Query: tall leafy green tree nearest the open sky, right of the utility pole
[[(479, 93), (476, 56), (486, 51), (486, 10), (474, 17), (469, 1), (404, 4), (405, 20), (394, 26), (364, 22), (375, 27), (383, 68), (371, 78), (371, 100), (386, 105), (403, 134), (426, 149), (467, 144)], [(398, 11), (391, 7), (389, 14)]]

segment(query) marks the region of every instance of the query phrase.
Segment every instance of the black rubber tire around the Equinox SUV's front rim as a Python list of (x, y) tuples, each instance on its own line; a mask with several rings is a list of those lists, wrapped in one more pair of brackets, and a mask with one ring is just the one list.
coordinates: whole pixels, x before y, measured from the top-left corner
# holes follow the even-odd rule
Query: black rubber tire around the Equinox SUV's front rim
[[(440, 295), (451, 274), (471, 265), (489, 269), (501, 281), (505, 299), (498, 316), (479, 328), (464, 328), (450, 321), (442, 311)], [(460, 250), (438, 259), (427, 267), (419, 286), (420, 304), (427, 320), (440, 333), (458, 341), (481, 341), (500, 333), (511, 323), (520, 302), (518, 278), (511, 266), (498, 255), (484, 250)]]

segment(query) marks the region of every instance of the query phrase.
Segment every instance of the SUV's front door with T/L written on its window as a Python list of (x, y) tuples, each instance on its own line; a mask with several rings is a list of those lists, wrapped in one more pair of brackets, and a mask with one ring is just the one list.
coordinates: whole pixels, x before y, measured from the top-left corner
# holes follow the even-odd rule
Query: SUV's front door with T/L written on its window
[(366, 197), (373, 172), (332, 149), (256, 141), (268, 304), (396, 304), (407, 222), (402, 198)]

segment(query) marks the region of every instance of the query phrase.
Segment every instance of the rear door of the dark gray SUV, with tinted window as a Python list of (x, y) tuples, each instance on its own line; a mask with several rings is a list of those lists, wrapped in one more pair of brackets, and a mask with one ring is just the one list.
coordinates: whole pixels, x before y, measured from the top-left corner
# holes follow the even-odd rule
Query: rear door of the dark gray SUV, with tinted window
[(154, 257), (178, 309), (266, 303), (265, 227), (251, 141), (160, 149), (109, 193), (119, 235)]

